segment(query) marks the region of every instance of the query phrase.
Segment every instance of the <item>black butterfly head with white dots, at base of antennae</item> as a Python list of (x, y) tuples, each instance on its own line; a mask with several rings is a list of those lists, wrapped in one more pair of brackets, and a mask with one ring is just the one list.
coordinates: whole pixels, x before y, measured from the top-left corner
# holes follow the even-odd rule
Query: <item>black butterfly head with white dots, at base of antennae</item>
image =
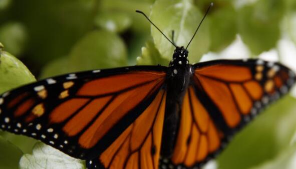
[(187, 57), (188, 51), (184, 47), (176, 47), (170, 66), (189, 64)]

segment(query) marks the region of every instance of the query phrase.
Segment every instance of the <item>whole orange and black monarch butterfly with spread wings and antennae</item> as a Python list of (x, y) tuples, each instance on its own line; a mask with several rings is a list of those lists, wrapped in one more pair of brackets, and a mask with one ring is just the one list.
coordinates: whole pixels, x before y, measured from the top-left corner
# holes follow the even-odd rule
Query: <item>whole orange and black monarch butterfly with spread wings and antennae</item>
[(190, 42), (170, 42), (168, 67), (72, 73), (2, 94), (0, 128), (84, 159), (89, 169), (198, 168), (296, 80), (285, 66), (256, 59), (192, 65)]

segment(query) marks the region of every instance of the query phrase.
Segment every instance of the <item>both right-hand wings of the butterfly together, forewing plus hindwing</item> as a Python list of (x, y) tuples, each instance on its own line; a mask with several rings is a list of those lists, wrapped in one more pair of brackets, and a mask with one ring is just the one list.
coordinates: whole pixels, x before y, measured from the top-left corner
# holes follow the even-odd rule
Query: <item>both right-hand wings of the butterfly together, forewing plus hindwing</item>
[(288, 68), (262, 60), (218, 60), (193, 65), (168, 168), (198, 167), (295, 82)]

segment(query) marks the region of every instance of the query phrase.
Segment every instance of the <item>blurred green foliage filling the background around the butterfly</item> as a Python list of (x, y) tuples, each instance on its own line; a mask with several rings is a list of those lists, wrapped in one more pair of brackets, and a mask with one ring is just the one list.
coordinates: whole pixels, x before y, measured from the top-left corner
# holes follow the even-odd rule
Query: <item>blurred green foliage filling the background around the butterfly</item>
[[(209, 51), (222, 51), (237, 34), (252, 56), (274, 48), (283, 31), (296, 43), (294, 0), (0, 0), (5, 46), (5, 51), (0, 47), (0, 93), (35, 81), (23, 63), (38, 79), (134, 64), (168, 65), (173, 46), (135, 10), (149, 15), (168, 37), (174, 30), (176, 44), (186, 46), (210, 2), (215, 5), (189, 46), (191, 63)], [(234, 137), (217, 158), (218, 168), (288, 168), (296, 150), (291, 142), (295, 103), (286, 96), (266, 109)], [(0, 168), (18, 168), (36, 140), (0, 134)]]

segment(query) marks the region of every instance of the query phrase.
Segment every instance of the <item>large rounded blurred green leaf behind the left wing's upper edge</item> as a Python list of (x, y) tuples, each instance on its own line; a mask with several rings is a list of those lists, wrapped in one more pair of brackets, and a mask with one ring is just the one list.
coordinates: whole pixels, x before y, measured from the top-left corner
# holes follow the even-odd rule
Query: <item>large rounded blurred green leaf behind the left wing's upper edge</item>
[(119, 36), (108, 31), (93, 31), (72, 49), (71, 71), (126, 66), (126, 55), (125, 44)]

